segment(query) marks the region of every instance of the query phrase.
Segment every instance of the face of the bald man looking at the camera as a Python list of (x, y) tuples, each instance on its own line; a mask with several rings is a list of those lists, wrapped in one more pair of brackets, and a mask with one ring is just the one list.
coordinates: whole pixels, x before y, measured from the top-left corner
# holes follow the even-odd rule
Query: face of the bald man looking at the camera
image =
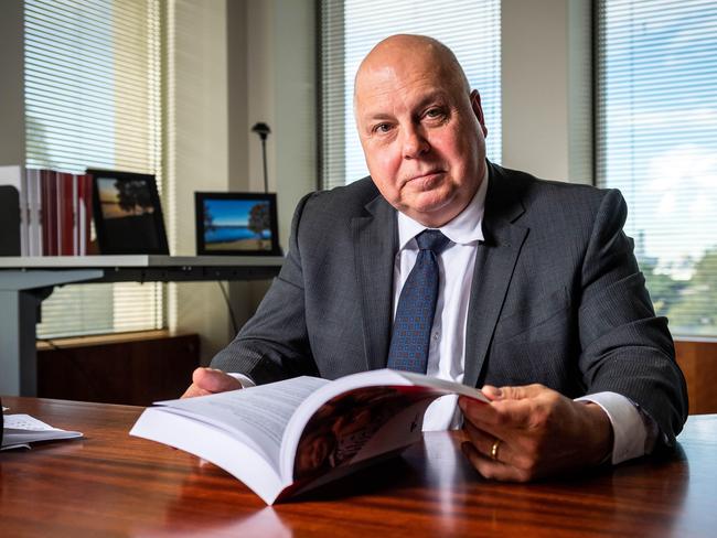
[(427, 54), (384, 54), (356, 78), (355, 114), (383, 196), (428, 227), (456, 217), (485, 171), (480, 97)]

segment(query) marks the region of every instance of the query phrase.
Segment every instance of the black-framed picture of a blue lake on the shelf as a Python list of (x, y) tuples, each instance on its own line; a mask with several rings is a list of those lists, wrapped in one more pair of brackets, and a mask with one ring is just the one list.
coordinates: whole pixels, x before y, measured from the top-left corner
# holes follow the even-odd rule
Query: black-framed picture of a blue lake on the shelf
[(281, 254), (274, 193), (194, 193), (196, 254)]

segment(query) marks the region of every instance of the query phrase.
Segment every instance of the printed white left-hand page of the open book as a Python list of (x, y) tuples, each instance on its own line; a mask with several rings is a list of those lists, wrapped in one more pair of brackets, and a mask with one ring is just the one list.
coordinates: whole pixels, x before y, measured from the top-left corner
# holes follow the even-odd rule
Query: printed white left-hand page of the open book
[(328, 383), (304, 376), (158, 404), (168, 412), (188, 416), (233, 432), (278, 470), (281, 438), (289, 419), (310, 394)]

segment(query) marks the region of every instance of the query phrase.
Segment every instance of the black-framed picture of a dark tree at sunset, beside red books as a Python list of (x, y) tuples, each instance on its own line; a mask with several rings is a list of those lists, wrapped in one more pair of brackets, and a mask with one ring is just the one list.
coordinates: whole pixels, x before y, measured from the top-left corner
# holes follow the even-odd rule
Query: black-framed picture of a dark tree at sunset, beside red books
[(169, 255), (154, 176), (87, 170), (100, 254)]

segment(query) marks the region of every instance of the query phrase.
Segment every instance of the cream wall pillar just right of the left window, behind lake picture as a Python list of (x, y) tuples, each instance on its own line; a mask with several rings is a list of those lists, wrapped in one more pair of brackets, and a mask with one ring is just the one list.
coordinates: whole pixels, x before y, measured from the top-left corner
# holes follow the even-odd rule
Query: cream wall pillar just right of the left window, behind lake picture
[[(227, 191), (228, 85), (226, 2), (168, 3), (164, 204), (170, 252), (195, 254), (194, 192)], [(206, 362), (232, 336), (216, 282), (171, 283), (170, 329), (196, 332)]]

